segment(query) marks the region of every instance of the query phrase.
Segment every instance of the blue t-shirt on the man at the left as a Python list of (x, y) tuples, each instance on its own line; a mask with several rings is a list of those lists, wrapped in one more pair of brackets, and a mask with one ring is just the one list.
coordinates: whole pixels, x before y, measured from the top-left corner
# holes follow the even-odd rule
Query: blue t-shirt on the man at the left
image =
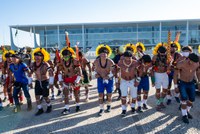
[(10, 64), (10, 70), (14, 74), (16, 82), (28, 84), (28, 78), (25, 73), (25, 71), (28, 70), (28, 67), (25, 63), (19, 63), (17, 65), (12, 63)]

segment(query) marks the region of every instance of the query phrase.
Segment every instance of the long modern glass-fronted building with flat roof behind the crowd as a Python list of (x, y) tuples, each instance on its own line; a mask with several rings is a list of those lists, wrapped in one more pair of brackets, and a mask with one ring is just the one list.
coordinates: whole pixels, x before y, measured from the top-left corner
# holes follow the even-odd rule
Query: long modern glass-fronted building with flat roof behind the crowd
[[(99, 44), (111, 47), (142, 42), (151, 50), (159, 42), (167, 42), (168, 31), (174, 40), (181, 32), (179, 43), (197, 48), (200, 44), (200, 19), (133, 21), (109, 23), (71, 23), (47, 25), (10, 26), (11, 48), (17, 49), (13, 41), (13, 30), (22, 30), (34, 34), (34, 47), (63, 48), (66, 46), (65, 32), (69, 33), (71, 46), (79, 42), (84, 52), (95, 50)], [(39, 41), (36, 40), (39, 37)]]

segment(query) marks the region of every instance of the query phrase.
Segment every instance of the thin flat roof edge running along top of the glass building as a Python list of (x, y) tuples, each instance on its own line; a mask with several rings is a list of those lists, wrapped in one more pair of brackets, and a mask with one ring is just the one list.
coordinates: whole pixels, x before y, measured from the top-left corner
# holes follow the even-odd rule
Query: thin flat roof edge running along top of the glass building
[(17, 27), (37, 27), (37, 26), (80, 26), (80, 25), (106, 25), (106, 24), (137, 24), (137, 23), (158, 23), (170, 21), (200, 21), (200, 19), (172, 19), (172, 20), (147, 20), (147, 21), (121, 21), (121, 22), (83, 22), (83, 23), (61, 23), (61, 24), (29, 24), (29, 25), (10, 25), (10, 28)]

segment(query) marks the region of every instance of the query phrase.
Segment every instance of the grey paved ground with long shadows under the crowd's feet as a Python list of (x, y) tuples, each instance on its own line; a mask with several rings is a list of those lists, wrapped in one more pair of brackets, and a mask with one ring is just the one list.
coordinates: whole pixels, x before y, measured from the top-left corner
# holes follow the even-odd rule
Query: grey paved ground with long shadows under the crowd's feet
[[(191, 110), (194, 119), (190, 120), (190, 124), (182, 123), (181, 113), (177, 110), (178, 104), (175, 100), (163, 112), (157, 112), (154, 108), (154, 88), (150, 92), (149, 110), (141, 114), (128, 112), (126, 117), (121, 117), (121, 102), (116, 101), (116, 94), (114, 94), (112, 112), (98, 117), (96, 80), (93, 80), (92, 84), (90, 101), (88, 103), (82, 102), (81, 111), (78, 113), (75, 112), (74, 101), (71, 101), (71, 114), (62, 116), (61, 111), (64, 104), (60, 102), (60, 98), (52, 102), (52, 113), (44, 113), (39, 117), (34, 116), (36, 112), (35, 103), (33, 104), (34, 110), (31, 112), (27, 112), (26, 105), (23, 105), (22, 112), (17, 114), (12, 113), (12, 108), (5, 107), (0, 112), (0, 133), (200, 133), (200, 96), (198, 95), (196, 96), (194, 108)], [(31, 94), (34, 98), (33, 90), (31, 90)], [(82, 89), (82, 99), (83, 94)], [(33, 101), (35, 102), (35, 99)]]

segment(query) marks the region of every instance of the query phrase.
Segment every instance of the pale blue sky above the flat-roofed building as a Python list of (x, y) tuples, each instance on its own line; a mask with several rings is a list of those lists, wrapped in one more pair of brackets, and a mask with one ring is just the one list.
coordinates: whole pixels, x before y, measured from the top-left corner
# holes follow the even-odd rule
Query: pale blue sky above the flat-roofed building
[[(0, 45), (10, 44), (9, 25), (200, 19), (199, 5), (199, 0), (0, 0)], [(22, 45), (32, 43), (17, 38)]]

